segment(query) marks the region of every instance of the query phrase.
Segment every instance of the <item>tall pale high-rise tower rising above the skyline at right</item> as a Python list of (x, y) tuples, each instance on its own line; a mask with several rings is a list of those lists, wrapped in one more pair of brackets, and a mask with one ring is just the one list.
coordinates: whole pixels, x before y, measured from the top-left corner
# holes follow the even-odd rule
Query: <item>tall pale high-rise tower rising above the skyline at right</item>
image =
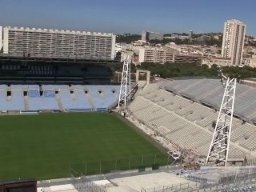
[(224, 23), (222, 56), (231, 58), (231, 65), (242, 65), (242, 51), (245, 42), (246, 25), (238, 20)]

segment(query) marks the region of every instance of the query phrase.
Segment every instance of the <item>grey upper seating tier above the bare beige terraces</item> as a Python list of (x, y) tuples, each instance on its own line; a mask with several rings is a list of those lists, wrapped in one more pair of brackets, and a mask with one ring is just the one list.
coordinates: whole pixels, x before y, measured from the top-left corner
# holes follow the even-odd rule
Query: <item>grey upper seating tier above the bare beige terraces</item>
[[(162, 82), (162, 87), (175, 94), (191, 98), (195, 102), (202, 102), (219, 110), (224, 88), (218, 79), (186, 79)], [(237, 83), (234, 102), (234, 114), (245, 120), (252, 121), (255, 117), (256, 89)]]

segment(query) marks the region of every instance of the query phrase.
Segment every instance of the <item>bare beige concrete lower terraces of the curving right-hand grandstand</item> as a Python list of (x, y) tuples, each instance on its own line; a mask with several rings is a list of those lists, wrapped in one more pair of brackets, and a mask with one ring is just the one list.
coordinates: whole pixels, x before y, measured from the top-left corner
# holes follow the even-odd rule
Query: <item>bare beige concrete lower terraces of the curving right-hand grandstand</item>
[[(176, 145), (206, 155), (218, 112), (166, 90), (159, 90), (158, 86), (146, 89), (128, 106), (131, 114)], [(218, 102), (217, 99), (215, 102)], [(249, 151), (256, 150), (256, 139), (251, 137), (255, 134), (256, 126), (247, 122), (242, 124), (241, 120), (234, 118), (229, 158), (244, 158)]]

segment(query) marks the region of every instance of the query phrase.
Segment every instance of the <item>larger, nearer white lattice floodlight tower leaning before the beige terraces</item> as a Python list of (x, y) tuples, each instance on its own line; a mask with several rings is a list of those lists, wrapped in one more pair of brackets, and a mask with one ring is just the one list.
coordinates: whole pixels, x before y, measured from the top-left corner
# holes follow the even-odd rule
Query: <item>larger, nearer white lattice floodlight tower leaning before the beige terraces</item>
[(210, 150), (206, 158), (206, 166), (226, 166), (230, 148), (237, 79), (226, 78), (220, 68), (218, 75), (221, 78), (222, 85), (225, 86), (225, 91), (222, 97), (222, 104), (215, 125), (214, 135), (210, 144)]

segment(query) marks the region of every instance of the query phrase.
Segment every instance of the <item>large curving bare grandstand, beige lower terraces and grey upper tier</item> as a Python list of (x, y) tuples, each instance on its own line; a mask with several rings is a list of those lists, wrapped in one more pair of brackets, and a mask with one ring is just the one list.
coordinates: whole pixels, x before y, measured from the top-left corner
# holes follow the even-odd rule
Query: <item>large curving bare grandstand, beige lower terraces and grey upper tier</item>
[[(131, 116), (175, 146), (206, 156), (223, 92), (217, 79), (155, 83), (141, 90), (128, 110)], [(254, 95), (253, 87), (237, 85), (229, 153), (230, 163), (236, 165), (241, 165), (249, 154), (256, 155)]]

